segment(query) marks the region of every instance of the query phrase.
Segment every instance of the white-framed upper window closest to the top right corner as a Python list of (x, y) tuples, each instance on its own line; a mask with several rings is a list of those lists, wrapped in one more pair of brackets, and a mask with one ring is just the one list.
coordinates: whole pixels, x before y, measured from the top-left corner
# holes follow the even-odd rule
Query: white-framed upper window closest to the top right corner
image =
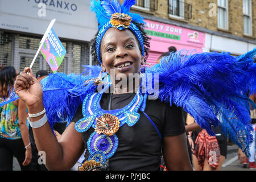
[(243, 34), (253, 35), (251, 0), (243, 0)]

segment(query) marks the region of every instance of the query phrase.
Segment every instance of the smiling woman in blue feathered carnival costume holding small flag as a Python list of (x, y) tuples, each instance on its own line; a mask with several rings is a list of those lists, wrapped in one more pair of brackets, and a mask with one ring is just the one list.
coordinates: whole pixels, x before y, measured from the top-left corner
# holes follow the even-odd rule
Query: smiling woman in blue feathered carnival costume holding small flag
[[(40, 83), (30, 68), (17, 77), (10, 101), (26, 102), (47, 168), (70, 169), (86, 148), (79, 170), (159, 170), (162, 154), (168, 170), (191, 170), (180, 107), (210, 135), (221, 125), (249, 155), (252, 127), (245, 93), (255, 90), (251, 57), (256, 50), (237, 58), (173, 53), (141, 74), (149, 39), (141, 16), (129, 12), (134, 4), (90, 4), (99, 23), (92, 40), (92, 55), (102, 68), (98, 77), (55, 73)], [(59, 117), (72, 122), (57, 140), (52, 126)]]

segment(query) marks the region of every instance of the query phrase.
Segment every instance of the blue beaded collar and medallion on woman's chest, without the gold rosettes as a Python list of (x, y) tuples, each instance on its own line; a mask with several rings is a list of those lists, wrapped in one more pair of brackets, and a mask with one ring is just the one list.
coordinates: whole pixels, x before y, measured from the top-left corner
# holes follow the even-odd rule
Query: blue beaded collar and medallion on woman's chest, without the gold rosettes
[[(82, 104), (82, 115), (84, 118), (76, 123), (76, 130), (83, 132), (89, 127), (96, 128), (97, 119), (104, 114), (112, 114), (119, 119), (119, 128), (127, 123), (129, 126), (134, 126), (139, 120), (139, 107), (143, 102), (143, 95), (141, 92), (135, 94), (133, 100), (121, 109), (104, 110), (101, 109), (100, 100), (103, 93), (91, 93), (86, 96)], [(85, 121), (86, 120), (86, 121)], [(90, 153), (90, 159), (98, 160), (104, 163), (106, 159), (112, 157), (117, 151), (118, 138), (117, 135), (107, 136), (104, 134), (97, 134), (96, 131), (92, 133), (87, 141), (87, 148)]]

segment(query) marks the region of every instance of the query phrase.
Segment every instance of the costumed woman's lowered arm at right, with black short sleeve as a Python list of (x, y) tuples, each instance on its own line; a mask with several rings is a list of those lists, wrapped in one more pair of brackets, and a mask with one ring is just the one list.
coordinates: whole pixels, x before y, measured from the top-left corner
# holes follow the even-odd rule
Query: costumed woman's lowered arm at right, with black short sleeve
[(163, 133), (163, 157), (171, 171), (192, 170), (188, 155), (187, 134), (180, 107), (167, 107)]

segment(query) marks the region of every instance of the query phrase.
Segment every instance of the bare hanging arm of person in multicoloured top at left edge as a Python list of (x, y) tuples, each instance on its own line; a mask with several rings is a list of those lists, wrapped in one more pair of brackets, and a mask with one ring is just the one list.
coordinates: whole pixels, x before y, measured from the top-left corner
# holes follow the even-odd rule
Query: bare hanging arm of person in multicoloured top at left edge
[(18, 119), (19, 119), (19, 129), (22, 135), (22, 140), (24, 146), (26, 147), (26, 155), (24, 162), (22, 163), (23, 166), (27, 166), (31, 163), (32, 159), (32, 152), (31, 152), (31, 143), (30, 137), (28, 134), (28, 127), (27, 127), (27, 109), (26, 104), (22, 100), (18, 100)]

